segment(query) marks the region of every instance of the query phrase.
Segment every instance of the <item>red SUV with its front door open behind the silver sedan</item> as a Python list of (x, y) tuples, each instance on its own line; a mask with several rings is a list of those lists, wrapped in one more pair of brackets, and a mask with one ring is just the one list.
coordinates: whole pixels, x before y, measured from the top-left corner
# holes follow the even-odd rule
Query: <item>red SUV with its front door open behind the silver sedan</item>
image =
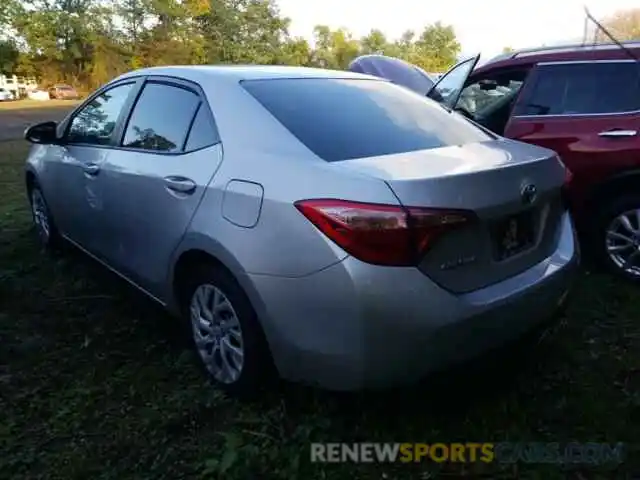
[(572, 172), (581, 243), (640, 281), (640, 42), (460, 62), (428, 96), (504, 137), (555, 150)]

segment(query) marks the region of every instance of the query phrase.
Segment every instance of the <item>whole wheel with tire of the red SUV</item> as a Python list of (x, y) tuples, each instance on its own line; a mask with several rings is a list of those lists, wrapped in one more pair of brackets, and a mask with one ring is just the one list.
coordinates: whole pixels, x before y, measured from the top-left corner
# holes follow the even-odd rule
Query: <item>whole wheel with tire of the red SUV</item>
[(640, 195), (619, 197), (603, 208), (595, 234), (600, 263), (619, 277), (640, 282)]

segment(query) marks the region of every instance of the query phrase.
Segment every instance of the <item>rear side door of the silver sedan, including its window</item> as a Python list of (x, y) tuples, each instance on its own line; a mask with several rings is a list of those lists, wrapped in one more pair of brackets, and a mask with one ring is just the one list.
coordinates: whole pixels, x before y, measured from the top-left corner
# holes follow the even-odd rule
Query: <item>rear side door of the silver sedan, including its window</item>
[(222, 161), (213, 115), (198, 85), (149, 77), (117, 150), (101, 170), (101, 256), (158, 296), (169, 258)]

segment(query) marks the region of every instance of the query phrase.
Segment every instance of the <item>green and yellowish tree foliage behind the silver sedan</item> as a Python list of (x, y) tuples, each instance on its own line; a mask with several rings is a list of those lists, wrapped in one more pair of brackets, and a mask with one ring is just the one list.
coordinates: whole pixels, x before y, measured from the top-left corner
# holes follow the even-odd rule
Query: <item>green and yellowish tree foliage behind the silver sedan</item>
[[(136, 68), (170, 64), (288, 64), (344, 69), (383, 53), (429, 71), (446, 70), (460, 45), (451, 26), (391, 41), (380, 30), (357, 39), (318, 25), (315, 46), (289, 34), (275, 0), (5, 0), (0, 70), (92, 89)], [(4, 41), (3, 41), (4, 40)]]

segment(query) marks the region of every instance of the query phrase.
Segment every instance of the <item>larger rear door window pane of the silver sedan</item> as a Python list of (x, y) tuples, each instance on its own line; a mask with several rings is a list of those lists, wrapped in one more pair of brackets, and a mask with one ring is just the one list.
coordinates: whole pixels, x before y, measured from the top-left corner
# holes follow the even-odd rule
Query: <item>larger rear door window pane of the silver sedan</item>
[(179, 152), (200, 98), (190, 90), (147, 83), (127, 124), (122, 145), (161, 152)]

